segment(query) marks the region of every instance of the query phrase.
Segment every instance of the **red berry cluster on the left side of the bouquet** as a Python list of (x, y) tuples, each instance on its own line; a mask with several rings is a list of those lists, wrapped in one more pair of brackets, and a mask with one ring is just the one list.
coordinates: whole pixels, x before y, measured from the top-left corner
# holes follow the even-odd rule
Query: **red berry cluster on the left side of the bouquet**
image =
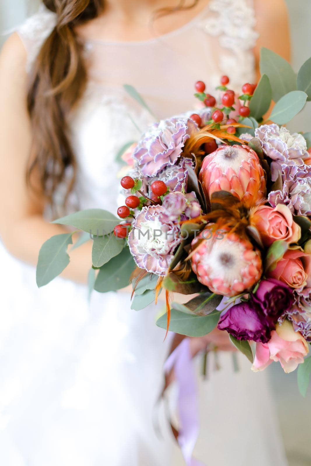
[[(121, 179), (121, 186), (124, 189), (130, 189), (131, 192), (139, 192), (142, 197), (138, 198), (134, 194), (128, 196), (125, 199), (125, 206), (120, 206), (117, 209), (117, 214), (121, 219), (127, 219), (129, 217), (134, 218), (134, 212), (131, 209), (137, 209), (138, 207), (142, 207), (147, 202), (151, 204), (156, 204), (159, 202), (159, 198), (164, 196), (167, 193), (167, 186), (163, 181), (153, 181), (151, 185), (151, 191), (154, 195), (154, 199), (149, 199), (145, 194), (140, 191), (141, 183), (139, 180), (134, 180), (130, 176), (124, 176)], [(131, 223), (123, 223), (119, 224), (114, 227), (113, 233), (117, 238), (126, 238), (128, 236), (129, 230), (131, 227)]]

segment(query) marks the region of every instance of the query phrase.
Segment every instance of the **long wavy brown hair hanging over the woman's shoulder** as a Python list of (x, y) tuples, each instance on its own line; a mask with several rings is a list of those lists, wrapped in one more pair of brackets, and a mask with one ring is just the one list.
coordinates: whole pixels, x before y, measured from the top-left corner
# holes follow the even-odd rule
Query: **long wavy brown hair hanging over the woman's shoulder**
[[(198, 1), (193, 0), (190, 7)], [(64, 180), (66, 169), (73, 169), (67, 194), (72, 189), (76, 173), (66, 117), (83, 94), (87, 73), (75, 27), (96, 18), (103, 11), (104, 0), (43, 0), (43, 3), (56, 13), (57, 19), (29, 75), (27, 104), (33, 146), (27, 181), (32, 185), (31, 175), (35, 171), (41, 191), (53, 203), (53, 194)], [(177, 7), (163, 8), (158, 13), (162, 16), (187, 8), (185, 0), (180, 0)]]

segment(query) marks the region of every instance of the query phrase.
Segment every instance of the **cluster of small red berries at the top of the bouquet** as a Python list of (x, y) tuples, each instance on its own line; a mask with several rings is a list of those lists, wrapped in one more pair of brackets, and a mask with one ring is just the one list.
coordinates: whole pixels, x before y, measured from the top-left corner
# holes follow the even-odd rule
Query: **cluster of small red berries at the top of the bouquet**
[[(216, 106), (216, 99), (214, 96), (211, 96), (210, 94), (205, 93), (205, 83), (203, 81), (197, 81), (195, 83), (195, 90), (197, 91), (196, 94), (194, 94), (201, 102), (203, 102), (207, 107), (213, 108), (213, 113), (211, 116), (211, 120), (207, 123), (214, 123), (214, 124), (220, 124), (223, 122), (224, 124), (228, 125), (227, 127), (227, 133), (228, 134), (235, 134), (235, 126), (231, 126), (234, 123), (237, 123), (237, 121), (234, 118), (229, 118), (229, 115), (232, 111), (235, 111), (234, 105), (236, 104), (236, 100), (240, 100), (244, 102), (244, 105), (240, 106), (238, 113), (240, 118), (245, 118), (248, 117), (250, 114), (249, 110), (249, 101), (252, 98), (254, 91), (256, 89), (256, 84), (249, 84), (248, 82), (242, 86), (242, 95), (239, 97), (235, 96), (235, 92), (232, 89), (228, 89), (227, 85), (229, 84), (229, 78), (228, 76), (221, 76), (220, 80), (220, 86), (218, 86), (216, 89), (219, 89), (223, 92), (221, 96), (221, 104), (222, 108), (217, 108)], [(194, 113), (191, 115), (191, 117), (195, 123), (199, 127), (204, 126), (205, 122), (202, 122), (202, 119), (200, 115), (197, 113)], [(203, 124), (202, 124), (203, 123)], [(206, 145), (212, 145), (213, 147), (216, 146), (216, 143), (207, 143)], [(211, 149), (213, 147), (206, 147), (207, 153), (210, 153)], [(216, 147), (217, 148), (217, 147)]]

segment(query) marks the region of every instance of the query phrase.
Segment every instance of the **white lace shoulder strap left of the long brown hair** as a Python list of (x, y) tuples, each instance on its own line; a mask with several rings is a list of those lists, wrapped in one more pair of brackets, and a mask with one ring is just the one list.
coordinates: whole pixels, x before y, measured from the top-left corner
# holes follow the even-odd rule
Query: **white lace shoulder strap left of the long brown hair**
[(55, 24), (56, 14), (42, 6), (36, 14), (16, 28), (27, 51), (27, 71), (31, 68), (43, 42), (51, 34)]

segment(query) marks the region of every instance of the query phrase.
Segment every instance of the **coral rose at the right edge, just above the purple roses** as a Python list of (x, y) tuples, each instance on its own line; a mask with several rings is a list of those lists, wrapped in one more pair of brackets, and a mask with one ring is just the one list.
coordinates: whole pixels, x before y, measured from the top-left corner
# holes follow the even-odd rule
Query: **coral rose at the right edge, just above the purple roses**
[(288, 249), (267, 277), (281, 280), (290, 288), (311, 287), (311, 255), (299, 246)]

